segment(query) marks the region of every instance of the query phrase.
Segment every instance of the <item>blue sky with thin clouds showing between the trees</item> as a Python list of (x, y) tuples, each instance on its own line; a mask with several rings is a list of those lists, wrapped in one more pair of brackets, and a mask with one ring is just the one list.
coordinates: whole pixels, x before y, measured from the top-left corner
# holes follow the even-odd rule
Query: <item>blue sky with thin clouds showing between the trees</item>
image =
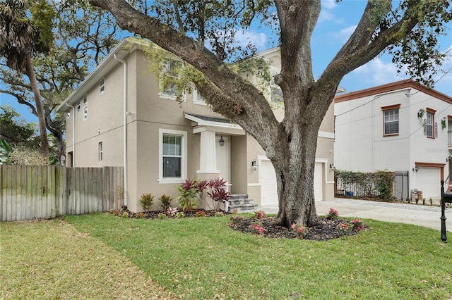
[[(321, 75), (326, 65), (355, 30), (366, 4), (367, 1), (362, 0), (343, 0), (338, 4), (334, 0), (322, 1), (319, 22), (311, 39), (314, 77)], [(452, 24), (449, 23), (447, 28), (448, 35), (440, 37), (440, 49), (443, 52), (452, 47)], [(272, 37), (268, 30), (252, 30), (243, 35), (237, 34), (237, 36), (239, 35), (242, 36), (244, 41), (246, 39), (254, 41), (259, 50), (273, 46), (269, 45)], [(448, 73), (444, 75), (444, 73), (439, 72), (435, 75), (434, 80), (437, 82), (434, 89), (452, 96), (452, 51), (449, 51), (449, 54), (451, 55), (441, 68)], [(396, 73), (396, 66), (391, 63), (391, 56), (383, 55), (345, 75), (340, 87), (345, 88), (347, 92), (354, 92), (407, 78), (409, 78), (408, 75), (404, 73), (399, 75)], [(37, 122), (37, 118), (24, 105), (17, 104), (16, 99), (0, 94), (0, 102), (2, 105), (10, 104), (27, 120)]]

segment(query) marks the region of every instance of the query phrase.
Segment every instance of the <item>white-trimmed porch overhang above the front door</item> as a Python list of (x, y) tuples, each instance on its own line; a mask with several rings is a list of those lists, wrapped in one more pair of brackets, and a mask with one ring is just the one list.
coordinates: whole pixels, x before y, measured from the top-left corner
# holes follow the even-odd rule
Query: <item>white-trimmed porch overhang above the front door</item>
[(218, 132), (223, 135), (245, 135), (240, 125), (233, 123), (227, 118), (219, 118), (211, 115), (198, 115), (196, 113), (185, 113), (185, 118), (196, 123), (193, 133)]

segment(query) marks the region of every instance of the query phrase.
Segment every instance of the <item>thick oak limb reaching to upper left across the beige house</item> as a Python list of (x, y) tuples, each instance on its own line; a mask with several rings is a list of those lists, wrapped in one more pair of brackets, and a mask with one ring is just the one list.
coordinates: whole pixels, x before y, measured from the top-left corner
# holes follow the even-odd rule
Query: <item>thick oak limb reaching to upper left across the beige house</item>
[[(198, 51), (194, 39), (181, 35), (180, 32), (160, 23), (156, 18), (136, 11), (124, 0), (90, 0), (90, 4), (110, 11), (122, 29), (136, 32), (141, 37), (150, 39), (206, 75), (212, 86), (205, 88), (215, 91), (206, 93), (206, 100), (213, 106), (214, 111), (236, 121), (255, 137), (256, 133), (261, 132), (263, 128), (273, 132), (273, 135), (268, 136), (277, 136), (280, 125), (263, 94), (232, 70), (225, 68), (222, 61), (219, 61), (205, 47), (202, 51)], [(221, 104), (220, 101), (213, 99), (213, 94), (216, 96), (222, 94), (219, 98), (222, 99)], [(237, 105), (240, 106), (242, 113), (237, 113), (234, 109), (230, 110)], [(262, 118), (249, 118), (249, 115), (261, 115)], [(261, 139), (258, 142), (265, 149), (269, 141)]]

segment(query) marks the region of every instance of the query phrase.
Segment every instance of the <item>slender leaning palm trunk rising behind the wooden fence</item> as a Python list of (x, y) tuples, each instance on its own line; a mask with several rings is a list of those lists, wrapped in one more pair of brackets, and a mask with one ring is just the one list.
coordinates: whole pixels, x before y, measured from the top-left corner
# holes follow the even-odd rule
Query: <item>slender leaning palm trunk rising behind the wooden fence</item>
[(45, 115), (44, 106), (42, 105), (41, 92), (37, 85), (35, 70), (31, 64), (30, 56), (26, 58), (25, 61), (25, 71), (28, 78), (30, 79), (30, 85), (33, 91), (33, 96), (35, 97), (37, 120), (40, 127), (40, 142), (41, 142), (41, 154), (42, 163), (49, 163), (49, 141), (47, 140), (47, 128), (45, 126)]

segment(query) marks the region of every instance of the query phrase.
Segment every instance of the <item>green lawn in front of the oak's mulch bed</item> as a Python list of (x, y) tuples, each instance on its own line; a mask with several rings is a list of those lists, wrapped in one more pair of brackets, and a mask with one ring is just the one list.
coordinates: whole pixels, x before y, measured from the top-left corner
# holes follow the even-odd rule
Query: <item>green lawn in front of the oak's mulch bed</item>
[[(364, 220), (327, 242), (234, 232), (227, 217), (66, 216), (182, 299), (450, 299), (451, 244), (438, 230)], [(126, 277), (124, 276), (124, 279)]]

